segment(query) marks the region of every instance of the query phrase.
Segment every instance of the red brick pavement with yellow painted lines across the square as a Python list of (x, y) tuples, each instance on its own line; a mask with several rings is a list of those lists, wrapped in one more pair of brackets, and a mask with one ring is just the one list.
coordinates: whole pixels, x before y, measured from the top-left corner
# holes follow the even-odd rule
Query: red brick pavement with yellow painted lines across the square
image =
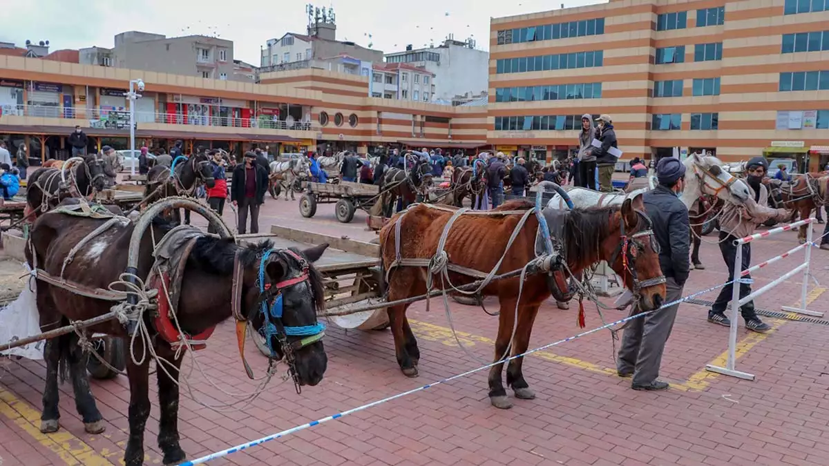
[[(230, 211), (225, 217), (231, 219)], [(363, 231), (363, 218), (358, 213), (351, 225), (342, 225), (333, 220), (330, 206), (320, 206), (316, 218), (303, 219), (298, 216), (296, 202), (269, 200), (261, 223), (366, 240), (374, 234)], [(793, 247), (794, 235), (758, 242), (754, 245), (755, 263)], [(813, 253), (815, 276), (827, 284), (826, 253)], [(702, 257), (708, 269), (692, 272), (686, 294), (726, 280), (725, 265), (714, 245), (703, 245)], [(754, 277), (755, 286), (793, 266), (793, 260), (784, 260), (763, 269)], [(799, 278), (765, 294), (758, 306), (778, 310), (782, 304), (792, 304), (797, 296)], [(829, 294), (819, 296), (811, 308), (829, 312), (827, 297)], [(195, 458), (480, 366), (455, 344), (437, 301), (433, 309), (426, 313), (424, 303), (410, 308), (422, 351), (418, 379), (400, 374), (388, 331), (332, 328), (326, 337), (326, 377), (319, 386), (304, 388), (302, 395), (293, 391), (290, 382), (273, 381), (252, 405), (228, 412), (182, 398), (182, 447)], [(599, 326), (598, 315), (589, 311), (588, 328)], [(494, 337), (497, 319), (478, 308), (455, 303), (452, 312), (464, 345), (478, 359), (487, 361), (492, 357), (487, 338)], [(545, 305), (531, 347), (579, 333), (575, 314)], [(621, 315), (608, 313), (605, 317)], [(706, 323), (705, 308), (684, 304), (662, 360), (662, 376), (675, 384), (669, 391), (630, 390), (629, 379), (613, 375), (609, 333), (599, 332), (528, 358), (525, 374), (538, 398), (517, 400), (512, 410), (489, 405), (484, 371), (232, 454), (215, 464), (827, 464), (829, 362), (822, 348), (827, 345), (829, 331), (816, 324), (771, 322), (775, 330), (768, 336), (739, 330), (739, 338), (745, 339), (750, 349), (740, 357), (738, 368), (756, 374), (754, 382), (704, 371), (706, 363), (725, 351), (728, 329)], [(258, 357), (252, 346), (249, 354), (255, 371), (262, 373), (264, 357)], [(254, 384), (236, 355), (230, 323), (217, 329), (208, 349), (199, 352), (196, 359), (203, 369), (203, 373), (196, 369), (189, 376), (196, 399), (206, 403), (230, 400), (206, 378), (225, 391), (253, 390)], [(187, 358), (185, 373), (191, 366)], [(6, 360), (2, 367), (3, 466), (119, 461), (127, 429), (128, 386), (124, 377), (93, 386), (108, 423), (106, 433), (84, 433), (70, 386), (63, 386), (62, 436), (46, 437), (36, 432), (43, 366)], [(21, 411), (22, 418), (16, 415)], [(161, 455), (154, 439), (158, 432), (155, 406), (152, 418), (146, 436), (148, 463), (158, 464)], [(82, 455), (84, 448), (89, 456)]]

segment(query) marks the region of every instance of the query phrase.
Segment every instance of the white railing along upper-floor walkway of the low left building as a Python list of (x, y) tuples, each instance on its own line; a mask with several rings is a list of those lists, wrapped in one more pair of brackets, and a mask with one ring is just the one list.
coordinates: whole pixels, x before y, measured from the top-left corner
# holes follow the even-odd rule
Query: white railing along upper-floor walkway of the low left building
[[(202, 107), (203, 108), (203, 107)], [(129, 129), (129, 111), (127, 109), (86, 109), (61, 107), (60, 105), (0, 105), (0, 119), (6, 116), (85, 119), (90, 128)], [(316, 121), (295, 120), (291, 123), (274, 115), (260, 114), (251, 118), (238, 118), (227, 115), (204, 114), (168, 114), (161, 112), (135, 111), (138, 128), (142, 123), (187, 124), (191, 126), (213, 126), (233, 128), (287, 129), (294, 131), (316, 131)]]

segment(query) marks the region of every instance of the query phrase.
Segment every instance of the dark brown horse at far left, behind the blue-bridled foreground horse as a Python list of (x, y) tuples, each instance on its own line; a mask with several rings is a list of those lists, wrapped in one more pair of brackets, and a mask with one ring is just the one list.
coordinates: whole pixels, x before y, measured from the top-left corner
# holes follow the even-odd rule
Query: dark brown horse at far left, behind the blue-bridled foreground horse
[[(82, 158), (70, 158), (75, 163), (71, 168), (40, 167), (29, 176), (26, 187), (25, 216), (34, 217), (57, 206), (67, 197), (92, 197), (114, 182), (116, 173), (109, 162), (99, 153)], [(66, 162), (69, 162), (67, 160)]]

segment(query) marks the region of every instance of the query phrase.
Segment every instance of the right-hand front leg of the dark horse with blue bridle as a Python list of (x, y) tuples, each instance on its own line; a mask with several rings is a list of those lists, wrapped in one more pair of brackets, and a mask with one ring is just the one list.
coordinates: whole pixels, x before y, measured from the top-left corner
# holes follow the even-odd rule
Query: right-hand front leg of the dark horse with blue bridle
[[(172, 362), (175, 368), (156, 371), (158, 378), (158, 405), (161, 415), (158, 418), (158, 448), (164, 454), (163, 464), (177, 464), (187, 456), (178, 444), (178, 372), (184, 355), (176, 359), (175, 352), (166, 343), (158, 345), (159, 356)], [(170, 375), (167, 375), (167, 372)]]

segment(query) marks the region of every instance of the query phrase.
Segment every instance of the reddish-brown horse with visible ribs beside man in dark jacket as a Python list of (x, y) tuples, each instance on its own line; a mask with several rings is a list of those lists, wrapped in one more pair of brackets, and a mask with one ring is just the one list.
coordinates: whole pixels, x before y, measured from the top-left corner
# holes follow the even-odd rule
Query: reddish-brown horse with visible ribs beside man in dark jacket
[[(395, 301), (426, 293), (428, 272), (422, 267), (398, 266), (395, 259), (430, 260), (438, 250), (442, 235), (446, 235), (444, 251), (453, 265), (486, 274), (497, 266), (510, 236), (523, 218), (522, 214), (532, 207), (527, 201), (507, 201), (492, 214), (458, 216), (448, 232), (444, 232), (444, 227), (455, 213), (451, 208), (421, 204), (397, 214), (380, 231), (381, 260), (389, 278), (385, 284), (387, 299)], [(642, 197), (637, 196), (624, 201), (621, 209), (615, 206), (565, 211), (557, 217), (556, 225), (549, 221), (548, 225), (551, 231), (560, 230), (556, 238), (565, 245), (564, 258), (574, 274), (579, 274), (599, 260), (605, 260), (623, 277), (628, 288), (640, 294), (640, 306), (652, 309), (659, 307), (666, 295), (665, 279), (659, 268), (657, 251), (653, 249), (656, 240), (652, 236), (650, 221), (643, 212)], [(529, 215), (510, 250), (504, 255), (497, 273), (521, 269), (536, 259), (539, 221), (534, 214)], [(395, 237), (397, 232), (400, 238)], [(625, 239), (627, 242), (623, 243)], [(623, 247), (623, 244), (630, 245), (630, 248)], [(400, 250), (396, 245), (400, 245)], [(442, 281), (439, 275), (434, 275), (434, 279), (438, 284)], [(449, 279), (456, 286), (474, 281), (473, 277), (451, 271)], [(506, 355), (508, 347), (512, 348), (513, 355), (526, 352), (538, 308), (550, 297), (545, 274), (529, 275), (523, 282), (521, 294), (520, 286), (521, 279), (515, 277), (492, 282), (482, 290), (485, 296), (497, 296), (501, 304), (495, 344), (496, 362)], [(439, 286), (444, 287), (448, 284)], [(388, 313), (400, 369), (406, 376), (417, 376), (420, 352), (405, 315), (407, 308), (409, 304), (390, 307)], [(511, 342), (514, 321), (517, 321), (517, 327)], [(510, 361), (507, 384), (512, 387), (516, 398), (531, 400), (535, 394), (521, 373), (521, 362), (520, 357)], [(503, 363), (497, 364), (489, 372), (489, 397), (492, 405), (506, 409), (512, 404), (502, 385), (502, 368)]]

